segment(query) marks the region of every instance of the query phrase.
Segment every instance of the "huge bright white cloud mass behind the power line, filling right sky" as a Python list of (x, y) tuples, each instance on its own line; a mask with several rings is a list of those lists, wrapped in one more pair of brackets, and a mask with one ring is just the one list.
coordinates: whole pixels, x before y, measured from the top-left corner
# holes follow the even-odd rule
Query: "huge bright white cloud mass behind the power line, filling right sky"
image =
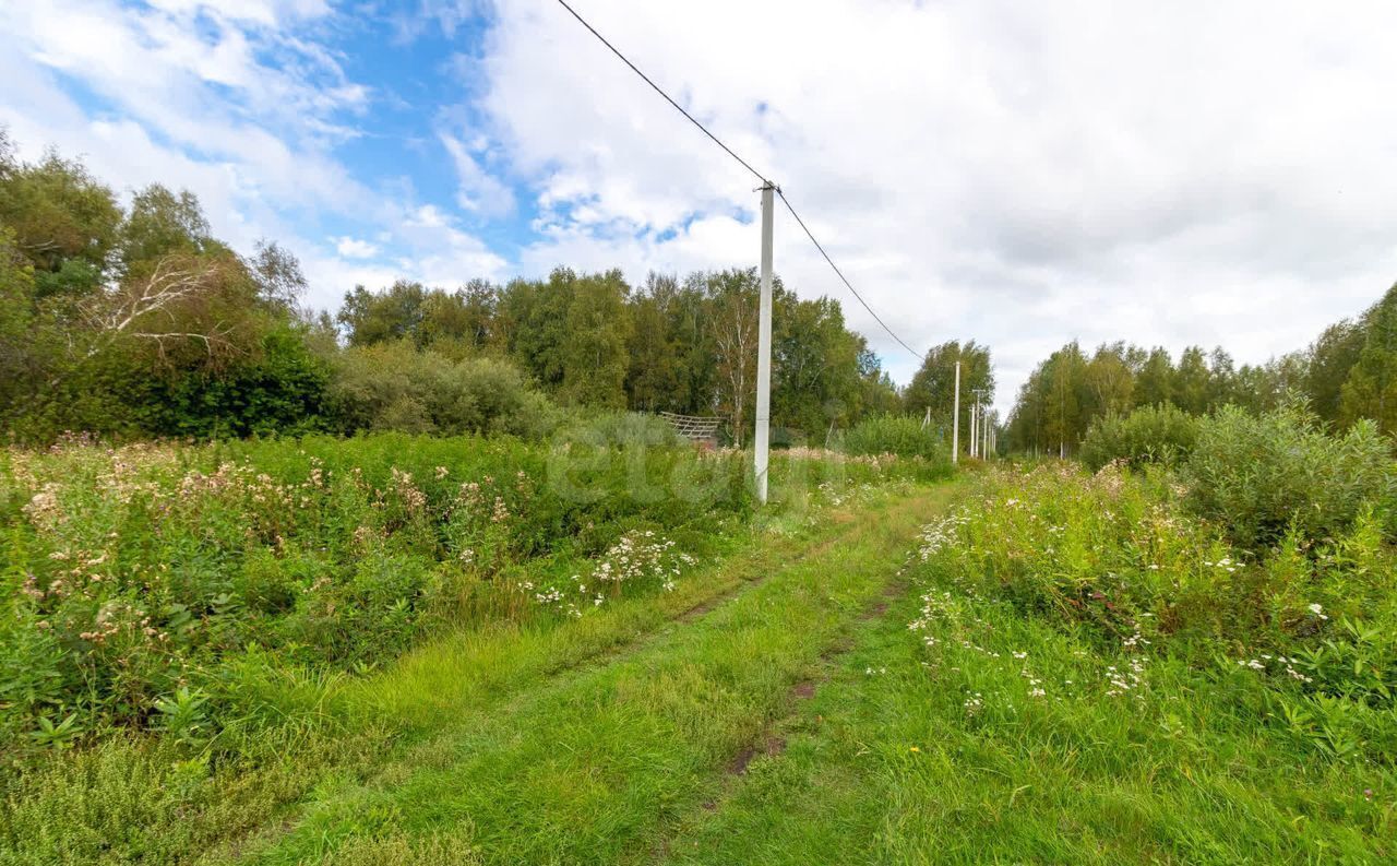
[[(988, 341), (1007, 408), (1067, 339), (1259, 362), (1397, 278), (1397, 7), (901, 0), (580, 7), (789, 191), (914, 345)], [(553, 4), (497, 4), (476, 108), (539, 187), (524, 264), (752, 264), (754, 182)], [(476, 88), (482, 88), (475, 82)], [(778, 204), (780, 210), (780, 204)], [(698, 214), (692, 226), (686, 221)], [(710, 215), (710, 216), (705, 216)], [(679, 229), (672, 237), (666, 229)], [(785, 216), (777, 267), (915, 362)]]

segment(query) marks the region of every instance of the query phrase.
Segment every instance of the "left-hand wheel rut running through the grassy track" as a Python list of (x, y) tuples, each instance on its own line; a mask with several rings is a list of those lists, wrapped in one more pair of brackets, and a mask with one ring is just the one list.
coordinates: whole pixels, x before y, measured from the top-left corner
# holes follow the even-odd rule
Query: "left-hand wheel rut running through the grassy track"
[[(372, 789), (379, 785), (391, 785), (391, 777), (401, 774), (404, 767), (411, 767), (419, 761), (436, 760), (434, 756), (443, 750), (458, 744), (461, 732), (472, 726), (489, 724), (497, 717), (511, 717), (527, 712), (535, 705), (541, 694), (567, 693), (578, 680), (592, 676), (598, 670), (624, 663), (652, 648), (655, 644), (673, 640), (676, 631), (700, 626), (711, 615), (719, 612), (739, 599), (743, 599), (764, 587), (773, 577), (788, 574), (793, 570), (807, 567), (812, 560), (821, 560), (841, 545), (855, 543), (859, 536), (869, 532), (876, 524), (923, 507), (925, 490), (918, 490), (911, 496), (894, 496), (879, 503), (872, 514), (842, 513), (831, 515), (828, 521), (837, 527), (834, 532), (816, 534), (813, 538), (800, 535), (795, 538), (781, 538), (774, 542), (760, 539), (757, 549), (738, 552), (729, 557), (719, 568), (728, 568), (726, 580), (714, 587), (714, 592), (707, 596), (693, 599), (687, 608), (665, 612), (661, 619), (645, 623), (644, 629), (627, 633), (624, 637), (617, 633), (617, 640), (604, 645), (590, 647), (578, 652), (562, 665), (548, 665), (541, 668), (528, 682), (513, 689), (503, 689), (495, 694), (481, 696), (485, 700), (461, 707), (460, 715), (448, 725), (439, 725), (436, 731), (420, 731), (416, 742), (408, 742), (397, 756), (398, 760), (388, 758), (380, 764), (377, 771), (360, 777), (359, 788)], [(566, 626), (564, 626), (566, 627)], [(824, 655), (828, 655), (828, 648)], [(827, 659), (826, 659), (827, 661)], [(791, 687), (791, 694), (813, 694), (813, 680), (796, 683)], [(472, 739), (471, 736), (465, 737)], [(739, 758), (729, 758), (728, 764)], [(265, 844), (275, 844), (275, 837), (284, 835), (279, 830), (264, 832), (263, 838), (244, 839), (249, 851), (264, 851)], [(270, 837), (270, 838), (268, 838)], [(277, 860), (272, 860), (277, 862)]]

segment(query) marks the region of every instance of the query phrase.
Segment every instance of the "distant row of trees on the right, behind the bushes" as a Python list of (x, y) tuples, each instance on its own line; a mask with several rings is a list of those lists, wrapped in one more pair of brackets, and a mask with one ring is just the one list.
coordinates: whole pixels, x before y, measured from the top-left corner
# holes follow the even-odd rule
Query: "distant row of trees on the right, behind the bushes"
[(1028, 453), (1073, 453), (1091, 425), (1137, 406), (1173, 405), (1192, 415), (1238, 405), (1256, 412), (1292, 395), (1338, 427), (1370, 418), (1397, 433), (1397, 285), (1356, 320), (1324, 330), (1306, 349), (1238, 367), (1221, 348), (1183, 351), (1125, 342), (1090, 355), (1073, 341), (1038, 365), (1018, 392), (1006, 444)]

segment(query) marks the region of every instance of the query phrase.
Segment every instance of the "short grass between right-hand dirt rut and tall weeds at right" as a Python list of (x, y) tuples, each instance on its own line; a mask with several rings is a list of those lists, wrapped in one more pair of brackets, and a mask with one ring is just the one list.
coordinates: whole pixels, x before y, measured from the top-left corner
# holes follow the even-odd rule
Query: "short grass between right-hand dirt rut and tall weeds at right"
[[(936, 595), (953, 587), (928, 587)], [(1235, 696), (1161, 662), (1136, 693), (1034, 697), (1085, 683), (1090, 643), (968, 599), (928, 663), (895, 602), (717, 809), (693, 812), (675, 863), (1390, 863), (1380, 771), (1298, 765)], [(1017, 655), (1016, 655), (1017, 654)], [(1123, 666), (1123, 662), (1122, 662)], [(1027, 675), (1025, 675), (1027, 672)], [(1053, 687), (1049, 684), (1049, 689)], [(968, 701), (977, 701), (971, 708)]]

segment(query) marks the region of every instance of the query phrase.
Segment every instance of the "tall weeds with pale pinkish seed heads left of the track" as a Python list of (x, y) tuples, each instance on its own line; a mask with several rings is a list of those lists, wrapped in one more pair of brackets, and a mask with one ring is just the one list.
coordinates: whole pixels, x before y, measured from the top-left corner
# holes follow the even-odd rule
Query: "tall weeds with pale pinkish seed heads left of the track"
[[(923, 469), (800, 454), (774, 474), (784, 508)], [(584, 574), (588, 560), (620, 573), (671, 541), (661, 582), (672, 580), (715, 542), (704, 528), (753, 514), (749, 476), (742, 453), (676, 447), (666, 425), (622, 413), (542, 444), (384, 434), (11, 448), (0, 742), (63, 747), (116, 725), (224, 747), (244, 680), (268, 663), (356, 670), (432, 627), (538, 617), (549, 608), (525, 584)], [(616, 549), (627, 538), (631, 555)]]

